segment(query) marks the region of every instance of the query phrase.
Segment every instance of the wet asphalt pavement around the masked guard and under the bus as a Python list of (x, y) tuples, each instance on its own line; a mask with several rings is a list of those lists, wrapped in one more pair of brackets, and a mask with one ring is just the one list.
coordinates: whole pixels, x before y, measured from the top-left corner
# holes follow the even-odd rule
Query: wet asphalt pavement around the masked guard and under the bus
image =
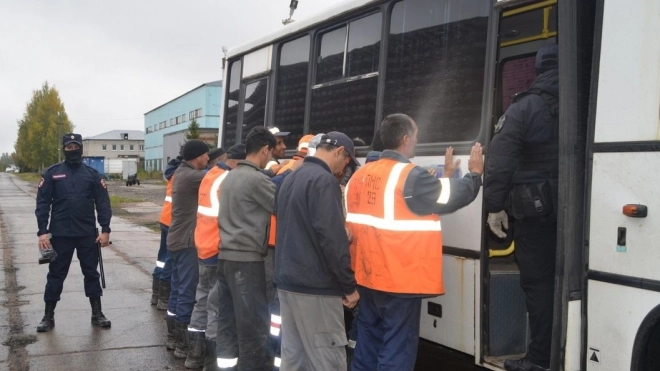
[[(91, 308), (74, 256), (55, 309), (55, 328), (37, 333), (44, 314), (47, 265), (39, 265), (35, 194), (27, 182), (0, 173), (0, 370), (185, 370), (165, 349), (164, 312), (149, 305), (160, 234), (113, 217), (103, 249), (103, 313), (112, 327), (90, 324)], [(471, 357), (421, 342), (416, 371), (481, 370)]]

